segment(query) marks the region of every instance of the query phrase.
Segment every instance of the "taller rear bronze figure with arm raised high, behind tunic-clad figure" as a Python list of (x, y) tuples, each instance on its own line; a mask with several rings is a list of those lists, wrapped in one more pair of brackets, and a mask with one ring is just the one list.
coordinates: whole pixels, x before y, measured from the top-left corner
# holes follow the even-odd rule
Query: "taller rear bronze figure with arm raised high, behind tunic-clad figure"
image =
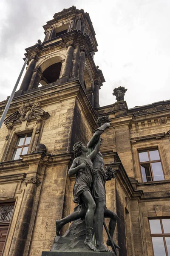
[[(96, 142), (99, 140), (99, 134), (102, 131), (105, 131), (110, 127), (110, 123), (105, 123), (94, 131), (94, 135), (87, 144), (88, 153), (90, 154), (93, 151), (93, 148), (96, 145)], [(101, 140), (102, 144), (102, 140)], [(106, 174), (105, 174), (105, 163), (103, 156), (100, 152), (96, 154), (96, 157), (93, 159), (93, 168), (94, 168), (94, 183), (92, 196), (96, 203), (96, 211), (94, 214), (94, 229), (95, 229), (95, 239), (96, 239), (96, 248), (101, 252), (110, 252), (103, 241), (102, 230), (103, 230), (103, 220), (105, 218), (111, 218), (109, 222), (109, 233), (111, 238), (113, 238), (113, 233), (116, 227), (117, 214), (106, 208), (106, 192), (105, 192), (105, 183), (106, 183)], [(108, 239), (107, 245), (111, 245)], [(119, 246), (116, 246), (119, 248)]]

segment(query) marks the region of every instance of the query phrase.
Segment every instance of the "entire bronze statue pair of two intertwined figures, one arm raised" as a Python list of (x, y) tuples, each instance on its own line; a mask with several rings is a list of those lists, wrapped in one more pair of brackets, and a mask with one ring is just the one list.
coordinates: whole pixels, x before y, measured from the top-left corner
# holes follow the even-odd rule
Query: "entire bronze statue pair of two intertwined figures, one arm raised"
[[(116, 213), (106, 209), (105, 195), (105, 182), (106, 180), (111, 180), (114, 174), (109, 169), (107, 169), (105, 173), (103, 157), (99, 152), (100, 145), (102, 144), (100, 135), (110, 127), (110, 120), (108, 120), (109, 119), (102, 120), (103, 122), (107, 121), (107, 123), (104, 123), (94, 131), (94, 135), (88, 142), (87, 147), (81, 142), (74, 145), (74, 154), (76, 158), (68, 171), (68, 175), (72, 176), (76, 174), (73, 201), (79, 204), (80, 210), (76, 210), (67, 217), (56, 221), (56, 234), (57, 236), (60, 236), (59, 232), (63, 225), (79, 218), (85, 218), (86, 239), (84, 244), (91, 250), (101, 252), (112, 252), (103, 242), (102, 230), (104, 217), (111, 218), (109, 223), (110, 238), (113, 237), (117, 221)], [(93, 222), (96, 246), (92, 240)], [(107, 244), (111, 245), (109, 239)]]

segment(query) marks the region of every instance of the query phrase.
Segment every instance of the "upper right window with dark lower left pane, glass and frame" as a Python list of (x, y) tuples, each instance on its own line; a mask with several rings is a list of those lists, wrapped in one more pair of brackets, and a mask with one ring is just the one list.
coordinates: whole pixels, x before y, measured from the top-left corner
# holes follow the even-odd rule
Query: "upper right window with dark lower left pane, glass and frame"
[(139, 162), (143, 182), (164, 180), (158, 149), (139, 151)]

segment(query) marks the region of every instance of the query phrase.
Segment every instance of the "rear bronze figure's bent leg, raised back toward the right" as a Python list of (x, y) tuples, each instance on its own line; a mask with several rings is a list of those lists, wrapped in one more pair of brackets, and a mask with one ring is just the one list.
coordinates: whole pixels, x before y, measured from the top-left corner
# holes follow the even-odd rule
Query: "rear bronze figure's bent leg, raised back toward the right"
[[(109, 209), (105, 209), (104, 216), (105, 216), (105, 218), (111, 219), (109, 221), (109, 233), (111, 235), (111, 238), (113, 239), (113, 234), (114, 234), (114, 230), (115, 230), (116, 222), (117, 222), (117, 214), (115, 212), (112, 212)], [(107, 245), (111, 246), (109, 239), (107, 241)]]

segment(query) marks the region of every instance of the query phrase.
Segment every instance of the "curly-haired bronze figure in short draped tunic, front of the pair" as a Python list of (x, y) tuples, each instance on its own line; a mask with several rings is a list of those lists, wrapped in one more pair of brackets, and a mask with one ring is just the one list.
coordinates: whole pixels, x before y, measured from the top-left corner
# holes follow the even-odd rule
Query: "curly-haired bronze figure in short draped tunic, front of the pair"
[[(66, 218), (56, 221), (56, 233), (59, 235), (61, 227), (78, 218), (84, 218), (86, 222), (86, 239), (84, 241), (91, 250), (97, 251), (92, 237), (94, 212), (96, 204), (91, 195), (91, 184), (94, 177), (92, 160), (96, 157), (100, 148), (100, 138), (96, 143), (94, 150), (88, 154), (88, 149), (82, 142), (75, 143), (73, 147), (75, 159), (68, 171), (68, 176), (71, 177), (76, 174), (76, 181), (73, 189), (73, 201), (81, 204), (81, 210), (72, 212)], [(85, 209), (87, 207), (87, 210)]]

